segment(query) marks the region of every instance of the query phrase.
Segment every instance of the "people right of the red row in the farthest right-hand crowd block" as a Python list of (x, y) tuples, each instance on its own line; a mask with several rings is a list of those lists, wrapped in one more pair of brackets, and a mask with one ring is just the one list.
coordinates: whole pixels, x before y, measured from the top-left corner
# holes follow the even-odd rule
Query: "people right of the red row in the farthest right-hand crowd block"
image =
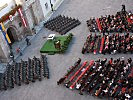
[(133, 32), (133, 24), (128, 22), (129, 13), (117, 12), (115, 15), (107, 15), (99, 18), (102, 32)]

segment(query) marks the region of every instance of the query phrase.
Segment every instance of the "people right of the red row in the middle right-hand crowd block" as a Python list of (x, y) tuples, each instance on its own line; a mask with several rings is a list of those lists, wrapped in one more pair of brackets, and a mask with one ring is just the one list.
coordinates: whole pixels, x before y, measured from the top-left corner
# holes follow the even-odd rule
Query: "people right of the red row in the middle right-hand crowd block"
[(127, 53), (133, 52), (133, 35), (129, 35), (129, 33), (126, 33), (126, 35), (119, 34), (109, 36), (107, 35), (105, 37), (105, 44), (103, 48), (103, 54), (105, 53)]

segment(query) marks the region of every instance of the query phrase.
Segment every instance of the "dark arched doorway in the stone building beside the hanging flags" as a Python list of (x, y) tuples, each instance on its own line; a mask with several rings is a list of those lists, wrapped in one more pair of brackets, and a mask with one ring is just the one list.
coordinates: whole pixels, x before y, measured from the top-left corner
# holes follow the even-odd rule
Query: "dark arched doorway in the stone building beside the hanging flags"
[(7, 34), (11, 40), (11, 44), (13, 44), (15, 42), (15, 36), (16, 36), (16, 30), (13, 27), (9, 27), (7, 29)]

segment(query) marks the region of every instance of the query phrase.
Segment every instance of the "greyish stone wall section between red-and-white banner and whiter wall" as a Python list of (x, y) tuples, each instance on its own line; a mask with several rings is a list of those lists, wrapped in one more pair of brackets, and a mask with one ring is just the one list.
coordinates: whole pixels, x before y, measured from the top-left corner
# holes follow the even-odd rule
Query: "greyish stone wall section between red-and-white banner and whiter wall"
[(22, 0), (22, 6), (30, 30), (44, 20), (39, 0)]

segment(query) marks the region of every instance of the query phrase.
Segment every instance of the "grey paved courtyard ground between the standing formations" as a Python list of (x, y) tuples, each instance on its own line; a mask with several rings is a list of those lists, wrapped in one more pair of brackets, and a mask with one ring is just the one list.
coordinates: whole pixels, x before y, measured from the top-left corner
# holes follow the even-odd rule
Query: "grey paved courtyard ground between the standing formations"
[[(50, 69), (50, 79), (43, 79), (41, 82), (36, 81), (29, 85), (16, 86), (14, 89), (0, 91), (0, 100), (99, 100), (91, 95), (79, 95), (77, 91), (71, 91), (63, 86), (56, 84), (69, 66), (73, 65), (78, 57), (84, 60), (92, 60), (99, 58), (118, 58), (131, 57), (133, 54), (116, 54), (116, 55), (93, 55), (81, 54), (82, 46), (89, 34), (86, 20), (92, 16), (99, 17), (106, 14), (115, 14), (121, 10), (121, 5), (125, 4), (127, 11), (133, 11), (133, 0), (64, 0), (61, 6), (56, 10), (52, 17), (58, 14), (78, 18), (81, 25), (74, 28), (70, 32), (74, 34), (74, 39), (65, 54), (47, 55), (48, 66)], [(70, 33), (69, 32), (69, 33)], [(28, 57), (40, 57), (40, 48), (46, 41), (44, 36), (48, 36), (51, 32), (43, 28), (31, 41), (31, 45), (27, 47), (20, 59), (27, 60)]]

